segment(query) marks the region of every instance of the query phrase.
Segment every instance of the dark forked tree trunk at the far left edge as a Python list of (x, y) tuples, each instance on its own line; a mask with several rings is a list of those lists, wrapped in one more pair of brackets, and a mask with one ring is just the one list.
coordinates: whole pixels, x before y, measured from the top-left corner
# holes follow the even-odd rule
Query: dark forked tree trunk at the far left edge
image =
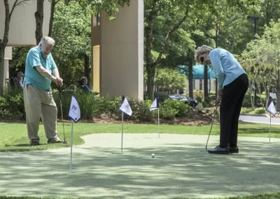
[(3, 39), (0, 39), (0, 95), (3, 94), (4, 59), (5, 59), (5, 49), (6, 49), (6, 46), (8, 45), (10, 19), (12, 18), (15, 7), (18, 5), (25, 4), (25, 1), (28, 1), (28, 0), (22, 0), (22, 1), (15, 0), (12, 8), (10, 9), (8, 0), (3, 0), (4, 6), (5, 6), (5, 27), (4, 27)]

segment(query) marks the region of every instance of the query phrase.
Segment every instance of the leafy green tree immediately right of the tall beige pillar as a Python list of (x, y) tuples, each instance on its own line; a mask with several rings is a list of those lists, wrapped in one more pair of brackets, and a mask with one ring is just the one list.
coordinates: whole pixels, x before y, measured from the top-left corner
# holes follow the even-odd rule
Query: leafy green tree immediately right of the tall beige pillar
[[(171, 0), (147, 0), (144, 1), (145, 6), (145, 62), (146, 69), (148, 74), (148, 98), (153, 99), (153, 85), (155, 77), (155, 68), (160, 66), (162, 63), (162, 58), (165, 57), (165, 54), (168, 54), (171, 50), (170, 48), (178, 48), (186, 45), (192, 45), (194, 43), (189, 39), (189, 36), (186, 36), (188, 32), (181, 29), (181, 25), (189, 17), (190, 11), (197, 11), (199, 7), (204, 3), (200, 0), (192, 1), (171, 1)], [(211, 5), (211, 4), (209, 4)], [(159, 30), (160, 34), (154, 36), (154, 32)], [(170, 39), (172, 35), (174, 40), (180, 38), (183, 34), (184, 36), (181, 39), (185, 39), (181, 46), (175, 46)], [(160, 36), (159, 36), (160, 35)], [(186, 42), (187, 41), (187, 42)], [(178, 44), (178, 43), (177, 43)], [(180, 50), (185, 52), (180, 53), (181, 55), (186, 56), (186, 48), (180, 48)], [(153, 60), (152, 50), (158, 52), (158, 57)], [(170, 51), (169, 51), (170, 50)], [(179, 53), (179, 51), (176, 51)], [(180, 57), (180, 56), (178, 56)], [(167, 60), (169, 60), (167, 58)]]

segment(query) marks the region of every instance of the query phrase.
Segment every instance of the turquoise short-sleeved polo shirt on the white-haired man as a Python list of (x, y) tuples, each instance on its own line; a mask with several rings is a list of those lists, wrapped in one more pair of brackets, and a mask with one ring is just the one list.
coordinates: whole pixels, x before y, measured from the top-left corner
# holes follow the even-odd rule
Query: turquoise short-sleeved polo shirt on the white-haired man
[(50, 74), (52, 74), (52, 71), (57, 68), (51, 54), (47, 57), (43, 57), (41, 46), (31, 48), (27, 54), (25, 62), (25, 81), (23, 82), (23, 85), (32, 84), (34, 87), (41, 90), (50, 90), (50, 83), (52, 81), (49, 78), (43, 77), (37, 71), (36, 67), (38, 66), (44, 67)]

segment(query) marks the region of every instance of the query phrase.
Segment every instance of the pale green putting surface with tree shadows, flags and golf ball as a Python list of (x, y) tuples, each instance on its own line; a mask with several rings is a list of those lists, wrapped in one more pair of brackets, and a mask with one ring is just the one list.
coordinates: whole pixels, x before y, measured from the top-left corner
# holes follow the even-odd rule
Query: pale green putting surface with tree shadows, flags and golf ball
[[(214, 198), (280, 190), (280, 140), (239, 137), (239, 154), (205, 151), (208, 135), (83, 137), (70, 148), (0, 153), (0, 195), (75, 198)], [(211, 136), (209, 148), (218, 144)], [(151, 158), (155, 153), (155, 158)]]

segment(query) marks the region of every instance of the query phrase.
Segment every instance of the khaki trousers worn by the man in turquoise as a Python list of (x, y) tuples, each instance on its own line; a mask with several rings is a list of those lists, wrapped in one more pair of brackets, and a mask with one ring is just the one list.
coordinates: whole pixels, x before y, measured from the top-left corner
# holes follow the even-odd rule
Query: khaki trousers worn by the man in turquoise
[(23, 89), (27, 132), (30, 140), (39, 140), (38, 136), (40, 116), (48, 139), (57, 137), (57, 106), (52, 98), (52, 91), (45, 91), (27, 84)]

